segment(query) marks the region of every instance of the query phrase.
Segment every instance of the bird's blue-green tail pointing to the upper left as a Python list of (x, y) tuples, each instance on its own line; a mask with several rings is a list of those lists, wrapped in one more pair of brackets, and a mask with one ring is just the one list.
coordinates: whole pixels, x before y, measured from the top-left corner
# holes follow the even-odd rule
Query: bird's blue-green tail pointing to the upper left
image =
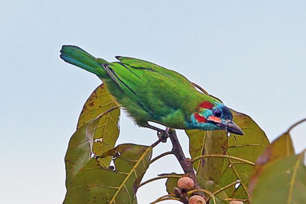
[(77, 46), (63, 45), (60, 57), (70, 64), (96, 74), (98, 77), (106, 77), (106, 72), (103, 69), (102, 64), (108, 62), (104, 59), (92, 56)]

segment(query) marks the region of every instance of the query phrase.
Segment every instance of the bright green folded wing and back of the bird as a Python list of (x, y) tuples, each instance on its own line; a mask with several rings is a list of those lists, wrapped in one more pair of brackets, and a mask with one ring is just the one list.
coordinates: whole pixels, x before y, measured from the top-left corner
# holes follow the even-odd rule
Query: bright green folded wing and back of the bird
[(141, 59), (116, 58), (120, 62), (103, 64), (107, 74), (151, 115), (164, 117), (177, 109), (196, 106), (185, 103), (198, 94), (193, 85), (179, 73)]

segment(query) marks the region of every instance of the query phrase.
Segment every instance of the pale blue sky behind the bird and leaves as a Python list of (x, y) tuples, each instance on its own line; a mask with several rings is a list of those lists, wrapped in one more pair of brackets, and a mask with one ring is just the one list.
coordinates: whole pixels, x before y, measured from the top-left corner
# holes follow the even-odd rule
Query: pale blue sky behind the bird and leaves
[[(1, 1), (1, 203), (64, 199), (68, 141), (101, 82), (62, 61), (63, 44), (176, 70), (252, 116), (273, 140), (306, 117), (305, 11), (305, 1)], [(292, 131), (297, 151), (306, 147), (305, 132), (306, 124)], [(178, 134), (188, 155), (188, 139)], [(154, 141), (155, 132), (123, 114), (118, 144)], [(169, 150), (162, 144), (154, 155)], [(182, 171), (167, 156), (144, 180), (171, 172)], [(138, 190), (138, 202), (164, 194), (159, 180)]]

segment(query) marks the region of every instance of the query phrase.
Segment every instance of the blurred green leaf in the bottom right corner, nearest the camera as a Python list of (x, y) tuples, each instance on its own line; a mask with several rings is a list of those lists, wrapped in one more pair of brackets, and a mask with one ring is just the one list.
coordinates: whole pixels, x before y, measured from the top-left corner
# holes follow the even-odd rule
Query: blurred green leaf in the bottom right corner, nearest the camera
[(304, 152), (266, 162), (253, 184), (252, 204), (306, 203), (306, 167)]

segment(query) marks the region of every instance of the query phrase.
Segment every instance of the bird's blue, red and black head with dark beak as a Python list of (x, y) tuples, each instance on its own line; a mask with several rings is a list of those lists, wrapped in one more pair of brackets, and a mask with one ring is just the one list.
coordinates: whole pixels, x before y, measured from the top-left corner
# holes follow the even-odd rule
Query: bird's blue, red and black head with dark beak
[(218, 100), (205, 100), (199, 104), (191, 115), (191, 124), (196, 129), (224, 129), (234, 134), (243, 135), (242, 130), (233, 122), (231, 111)]

